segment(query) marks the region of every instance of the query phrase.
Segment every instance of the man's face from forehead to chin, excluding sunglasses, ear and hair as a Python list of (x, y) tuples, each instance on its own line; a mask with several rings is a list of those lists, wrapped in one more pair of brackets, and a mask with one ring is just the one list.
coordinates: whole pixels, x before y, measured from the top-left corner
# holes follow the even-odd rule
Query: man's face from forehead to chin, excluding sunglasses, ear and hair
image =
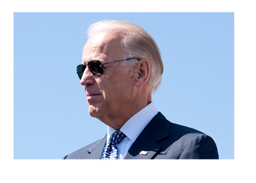
[[(97, 33), (84, 45), (83, 63), (117, 61), (122, 54), (123, 47), (115, 33)], [(121, 62), (104, 65), (104, 74), (100, 77), (94, 76), (86, 67), (81, 79), (90, 115), (104, 123), (129, 112), (134, 102), (134, 71)], [(107, 125), (110, 124), (107, 122)]]

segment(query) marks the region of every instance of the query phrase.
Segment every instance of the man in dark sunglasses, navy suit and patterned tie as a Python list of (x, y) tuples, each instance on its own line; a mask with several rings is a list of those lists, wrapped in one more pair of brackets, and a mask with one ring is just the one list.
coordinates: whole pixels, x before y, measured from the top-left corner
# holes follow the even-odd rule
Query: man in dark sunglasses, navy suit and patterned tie
[(109, 20), (90, 26), (88, 37), (77, 74), (90, 115), (108, 132), (63, 159), (218, 159), (211, 137), (169, 122), (154, 106), (163, 63), (147, 31)]

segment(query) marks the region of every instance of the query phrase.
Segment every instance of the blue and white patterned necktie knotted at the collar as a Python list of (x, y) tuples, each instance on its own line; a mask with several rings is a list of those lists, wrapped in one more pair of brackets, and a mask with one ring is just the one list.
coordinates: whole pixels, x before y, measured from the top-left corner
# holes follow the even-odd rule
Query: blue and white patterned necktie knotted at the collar
[(115, 131), (111, 134), (106, 147), (103, 150), (101, 159), (117, 159), (117, 145), (125, 138), (125, 134), (121, 131)]

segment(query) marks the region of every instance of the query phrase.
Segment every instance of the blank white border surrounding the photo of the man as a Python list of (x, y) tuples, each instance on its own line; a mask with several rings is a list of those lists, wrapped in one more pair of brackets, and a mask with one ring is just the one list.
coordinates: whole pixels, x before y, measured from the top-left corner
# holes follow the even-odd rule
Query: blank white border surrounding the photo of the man
[[(95, 3), (93, 3), (95, 2)], [(8, 1), (1, 3), (1, 182), (253, 182), (255, 6), (253, 1)], [(13, 12), (234, 12), (235, 159), (218, 161), (13, 160)], [(116, 170), (116, 167), (117, 170)], [(122, 168), (120, 168), (122, 167)], [(116, 170), (115, 177), (108, 172)], [(117, 178), (117, 179), (116, 179)], [(109, 180), (109, 181), (108, 181)]]

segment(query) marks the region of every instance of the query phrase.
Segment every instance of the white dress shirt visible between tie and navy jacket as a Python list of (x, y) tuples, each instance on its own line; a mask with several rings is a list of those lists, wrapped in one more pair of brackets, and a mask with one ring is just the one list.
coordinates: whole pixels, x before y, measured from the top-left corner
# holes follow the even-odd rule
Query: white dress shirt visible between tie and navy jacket
[[(124, 159), (132, 143), (138, 138), (139, 134), (147, 126), (147, 124), (158, 113), (154, 102), (151, 102), (138, 113), (132, 116), (120, 129), (126, 137), (117, 145), (118, 159)], [(113, 132), (116, 130), (108, 126), (107, 143)]]

